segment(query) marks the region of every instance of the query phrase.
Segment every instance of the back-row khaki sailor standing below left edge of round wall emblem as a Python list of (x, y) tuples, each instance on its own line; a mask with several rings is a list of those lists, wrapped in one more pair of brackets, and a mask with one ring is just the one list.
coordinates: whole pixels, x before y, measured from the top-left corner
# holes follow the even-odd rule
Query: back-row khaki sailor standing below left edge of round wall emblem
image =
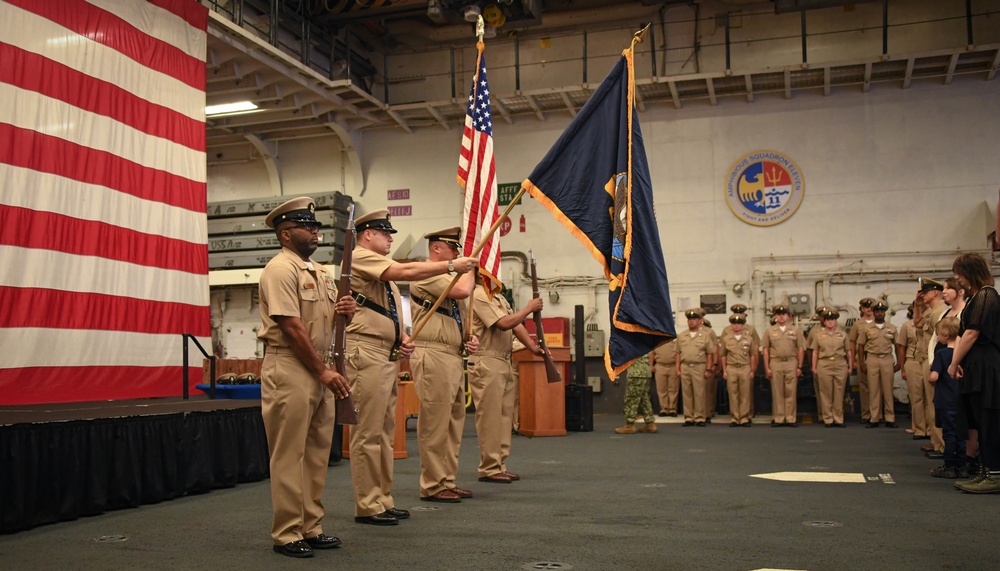
[(722, 332), (719, 360), (722, 378), (729, 390), (729, 426), (750, 426), (750, 397), (754, 370), (757, 368), (757, 341), (744, 329), (746, 318), (738, 313), (729, 316), (729, 327)]

